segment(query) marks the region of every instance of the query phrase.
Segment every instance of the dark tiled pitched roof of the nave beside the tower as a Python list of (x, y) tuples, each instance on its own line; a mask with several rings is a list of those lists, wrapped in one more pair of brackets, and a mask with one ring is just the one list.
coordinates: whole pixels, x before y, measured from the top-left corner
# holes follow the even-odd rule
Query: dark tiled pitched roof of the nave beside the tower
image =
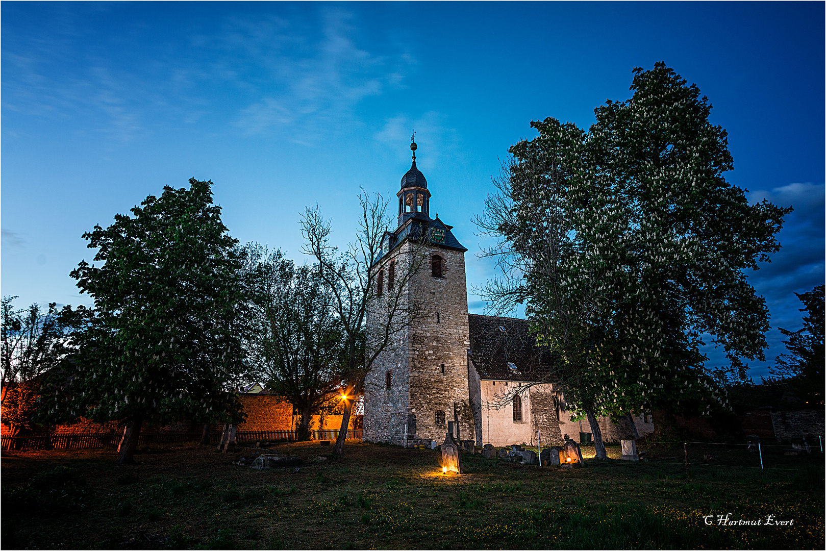
[[(468, 314), (468, 359), (479, 378), (496, 381), (553, 381), (553, 360), (530, 335), (529, 321)], [(515, 369), (511, 367), (513, 364)]]

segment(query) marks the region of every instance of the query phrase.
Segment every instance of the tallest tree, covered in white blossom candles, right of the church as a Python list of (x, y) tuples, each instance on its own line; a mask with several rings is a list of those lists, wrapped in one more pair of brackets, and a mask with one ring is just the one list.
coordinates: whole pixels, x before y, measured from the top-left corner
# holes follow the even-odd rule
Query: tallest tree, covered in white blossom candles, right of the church
[(596, 108), (589, 131), (532, 122), (539, 137), (510, 148), (478, 221), (499, 238), (488, 254), (505, 269), (487, 286), (492, 304), (525, 304), (598, 457), (596, 416), (726, 406), (702, 335), (738, 378), (743, 358), (763, 359), (767, 308), (745, 271), (780, 248), (774, 235), (790, 211), (749, 205), (725, 181), (726, 131), (694, 84), (659, 62), (634, 69), (630, 89), (629, 100)]

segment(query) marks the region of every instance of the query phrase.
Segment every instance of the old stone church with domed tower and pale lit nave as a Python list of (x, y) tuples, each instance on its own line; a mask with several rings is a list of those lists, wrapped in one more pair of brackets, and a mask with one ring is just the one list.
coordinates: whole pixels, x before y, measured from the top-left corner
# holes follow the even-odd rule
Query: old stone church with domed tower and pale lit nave
[[(396, 230), (384, 235), (382, 254), (371, 269), (377, 271), (381, 298), (393, 288), (395, 265), (400, 260), (410, 265), (413, 255), (423, 255), (424, 265), (397, 290), (402, 300), (419, 305), (420, 315), (399, 331), (365, 378), (364, 441), (441, 443), (449, 421), (454, 436), (477, 446), (535, 445), (538, 439), (554, 445), (564, 435), (590, 441), (588, 423), (571, 421), (565, 411), (550, 362), (529, 335), (528, 322), (468, 313), (468, 249), (453, 235), (453, 226), (439, 216), (430, 218), (431, 193), (415, 165), (415, 142), (411, 150), (411, 169), (396, 194)], [(368, 332), (381, 325), (376, 318), (368, 314)], [(619, 440), (619, 427), (610, 419), (599, 423), (605, 442)], [(634, 423), (640, 436), (653, 431), (650, 416), (635, 417)]]

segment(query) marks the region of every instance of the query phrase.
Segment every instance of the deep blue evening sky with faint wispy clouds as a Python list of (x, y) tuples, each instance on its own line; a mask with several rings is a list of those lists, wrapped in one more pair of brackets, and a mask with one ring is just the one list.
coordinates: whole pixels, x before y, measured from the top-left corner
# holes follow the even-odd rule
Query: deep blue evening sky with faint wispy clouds
[[(352, 238), (362, 187), (418, 164), (467, 246), (468, 282), (500, 159), (529, 122), (587, 127), (664, 60), (729, 131), (729, 182), (794, 206), (784, 249), (750, 275), (777, 326), (824, 282), (822, 2), (2, 2), (2, 295), (88, 304), (81, 239), (164, 185), (211, 179), (242, 242), (301, 256), (318, 205)], [(471, 311), (483, 313), (479, 297)], [(713, 360), (719, 354), (709, 350)]]

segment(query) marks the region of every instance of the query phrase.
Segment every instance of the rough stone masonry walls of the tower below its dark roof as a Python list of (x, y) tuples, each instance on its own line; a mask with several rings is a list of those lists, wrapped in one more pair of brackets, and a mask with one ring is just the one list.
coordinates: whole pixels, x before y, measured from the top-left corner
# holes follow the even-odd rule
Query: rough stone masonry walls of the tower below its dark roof
[[(401, 245), (399, 254), (397, 262), (411, 260), (409, 242)], [(402, 444), (406, 434), (409, 444), (442, 442), (450, 420), (458, 421), (460, 439), (475, 439), (468, 400), (470, 340), (464, 254), (435, 245), (425, 247), (425, 254), (424, 265), (406, 287), (406, 300), (419, 305), (422, 316), (379, 356), (365, 378), (365, 441)], [(442, 278), (431, 275), (434, 254), (443, 259)], [(377, 330), (380, 323), (373, 316), (368, 319), (368, 330)], [(387, 372), (391, 373), (389, 389)], [(437, 411), (444, 411), (444, 424), (437, 425)]]

